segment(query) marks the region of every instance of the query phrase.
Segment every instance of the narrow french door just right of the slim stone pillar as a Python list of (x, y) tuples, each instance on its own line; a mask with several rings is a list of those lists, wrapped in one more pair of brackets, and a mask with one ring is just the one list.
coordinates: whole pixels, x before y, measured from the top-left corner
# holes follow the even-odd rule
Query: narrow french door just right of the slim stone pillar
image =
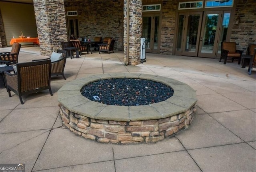
[(146, 38), (146, 52), (159, 52), (159, 20), (160, 14), (143, 14), (142, 17), (142, 38)]

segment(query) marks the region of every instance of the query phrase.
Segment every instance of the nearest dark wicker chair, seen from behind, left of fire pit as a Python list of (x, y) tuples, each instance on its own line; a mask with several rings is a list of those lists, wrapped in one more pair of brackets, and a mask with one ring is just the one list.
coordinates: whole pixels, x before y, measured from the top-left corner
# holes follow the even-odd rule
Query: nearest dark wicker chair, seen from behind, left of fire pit
[(50, 86), (51, 60), (18, 63), (16, 66), (15, 74), (4, 72), (9, 97), (11, 97), (10, 91), (13, 91), (19, 96), (20, 103), (24, 104), (22, 96), (26, 94), (49, 89), (50, 95), (53, 95)]

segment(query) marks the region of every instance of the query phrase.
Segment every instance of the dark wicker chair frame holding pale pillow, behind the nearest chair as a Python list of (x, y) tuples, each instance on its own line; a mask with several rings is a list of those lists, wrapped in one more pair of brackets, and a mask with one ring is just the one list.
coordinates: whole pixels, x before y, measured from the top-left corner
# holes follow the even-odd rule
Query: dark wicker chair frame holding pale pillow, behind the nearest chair
[[(65, 50), (57, 50), (57, 53), (62, 53), (62, 58), (60, 60), (57, 60), (55, 62), (52, 62), (52, 71), (51, 71), (51, 76), (58, 76), (62, 75), (64, 80), (66, 80), (64, 76), (64, 68), (66, 65), (66, 60), (68, 58), (68, 52)], [(39, 59), (39, 60), (32, 60), (33, 62), (35, 61), (40, 61), (40, 60), (49, 60), (50, 58), (46, 59)]]

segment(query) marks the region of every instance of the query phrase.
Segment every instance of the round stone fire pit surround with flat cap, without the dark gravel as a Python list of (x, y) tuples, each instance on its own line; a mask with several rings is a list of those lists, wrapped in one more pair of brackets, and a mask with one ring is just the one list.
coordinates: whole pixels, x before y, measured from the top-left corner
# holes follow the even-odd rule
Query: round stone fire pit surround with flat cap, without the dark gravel
[[(82, 96), (83, 86), (112, 78), (160, 82), (174, 90), (165, 101), (140, 106), (114, 106)], [(196, 91), (187, 84), (162, 76), (114, 73), (73, 80), (58, 90), (62, 123), (72, 132), (103, 143), (157, 142), (187, 128), (193, 119)]]

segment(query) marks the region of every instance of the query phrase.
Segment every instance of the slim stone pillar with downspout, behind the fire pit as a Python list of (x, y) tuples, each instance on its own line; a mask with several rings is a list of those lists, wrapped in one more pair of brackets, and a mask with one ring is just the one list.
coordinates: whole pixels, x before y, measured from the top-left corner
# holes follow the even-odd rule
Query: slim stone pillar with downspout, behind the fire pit
[[(127, 2), (129, 2), (129, 60), (127, 60)], [(140, 64), (142, 36), (142, 0), (124, 0), (124, 63)], [(128, 61), (128, 62), (127, 62)]]

